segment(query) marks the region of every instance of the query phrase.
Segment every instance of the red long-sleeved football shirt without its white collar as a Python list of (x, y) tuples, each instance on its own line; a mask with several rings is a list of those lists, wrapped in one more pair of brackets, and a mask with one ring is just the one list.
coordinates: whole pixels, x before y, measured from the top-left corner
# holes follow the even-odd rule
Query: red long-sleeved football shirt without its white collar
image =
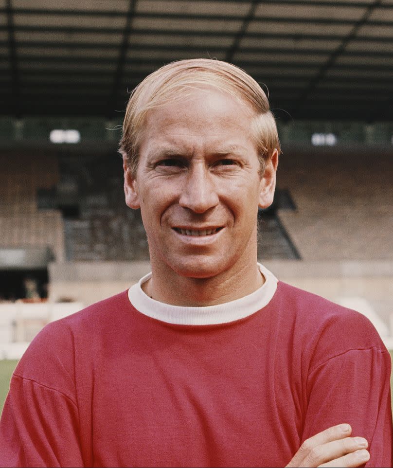
[(20, 360), (1, 466), (280, 467), (349, 423), (392, 466), (390, 355), (357, 312), (279, 282), (216, 325), (147, 317), (127, 292), (49, 324)]

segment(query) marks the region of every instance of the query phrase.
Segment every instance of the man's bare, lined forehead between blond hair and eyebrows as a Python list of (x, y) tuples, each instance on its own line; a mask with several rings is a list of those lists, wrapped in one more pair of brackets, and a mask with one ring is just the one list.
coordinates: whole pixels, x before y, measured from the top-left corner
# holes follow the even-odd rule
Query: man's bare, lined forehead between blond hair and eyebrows
[(147, 113), (141, 151), (165, 146), (215, 144), (244, 146), (251, 140), (254, 112), (244, 101), (215, 89), (196, 89)]

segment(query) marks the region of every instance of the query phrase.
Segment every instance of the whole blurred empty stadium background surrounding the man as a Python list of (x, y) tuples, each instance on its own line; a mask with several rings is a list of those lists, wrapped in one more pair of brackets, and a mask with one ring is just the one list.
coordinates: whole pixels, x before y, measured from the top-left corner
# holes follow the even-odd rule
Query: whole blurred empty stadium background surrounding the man
[(392, 0), (0, 0), (0, 403), (45, 324), (149, 271), (124, 202), (125, 106), (195, 57), (249, 72), (277, 119), (260, 261), (393, 349)]

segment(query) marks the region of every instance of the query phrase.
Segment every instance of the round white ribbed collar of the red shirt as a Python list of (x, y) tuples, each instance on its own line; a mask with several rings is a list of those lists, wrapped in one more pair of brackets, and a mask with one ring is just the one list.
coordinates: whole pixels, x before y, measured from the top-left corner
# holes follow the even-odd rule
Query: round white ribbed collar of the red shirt
[(277, 289), (277, 278), (258, 263), (260, 272), (265, 277), (263, 286), (248, 296), (235, 301), (217, 304), (215, 306), (186, 307), (172, 306), (155, 301), (142, 289), (141, 285), (151, 277), (151, 273), (143, 276), (139, 282), (128, 289), (128, 299), (142, 314), (169, 324), (179, 325), (214, 325), (225, 324), (243, 319), (262, 309), (270, 302)]

